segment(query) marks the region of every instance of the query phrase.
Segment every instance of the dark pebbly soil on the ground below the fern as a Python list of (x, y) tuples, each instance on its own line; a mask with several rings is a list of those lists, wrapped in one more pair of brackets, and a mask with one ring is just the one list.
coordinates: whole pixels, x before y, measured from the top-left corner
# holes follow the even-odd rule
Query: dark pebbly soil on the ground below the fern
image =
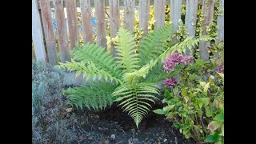
[[(161, 104), (156, 104), (152, 110), (161, 107)], [(196, 143), (193, 139), (184, 138), (165, 116), (152, 111), (140, 123), (139, 130), (134, 121), (116, 105), (102, 112), (73, 110), (70, 114), (75, 114), (73, 130), (78, 135), (78, 139), (72, 143)]]

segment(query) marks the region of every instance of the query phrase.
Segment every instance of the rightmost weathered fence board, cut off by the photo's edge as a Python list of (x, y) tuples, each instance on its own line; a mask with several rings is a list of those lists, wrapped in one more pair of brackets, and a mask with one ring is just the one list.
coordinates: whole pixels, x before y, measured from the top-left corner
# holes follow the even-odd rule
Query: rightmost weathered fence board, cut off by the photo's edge
[[(220, 10), (224, 10), (224, 0), (219, 0), (220, 1)], [(224, 11), (223, 14), (218, 15), (217, 19), (217, 25), (218, 25), (218, 42), (223, 42), (224, 41)]]

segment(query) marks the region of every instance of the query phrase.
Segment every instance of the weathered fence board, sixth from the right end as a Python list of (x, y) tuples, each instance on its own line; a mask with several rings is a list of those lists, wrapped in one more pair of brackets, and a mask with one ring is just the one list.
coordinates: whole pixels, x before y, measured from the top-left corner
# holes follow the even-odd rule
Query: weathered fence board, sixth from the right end
[(139, 0), (139, 27), (147, 34), (147, 23), (150, 21), (150, 0)]

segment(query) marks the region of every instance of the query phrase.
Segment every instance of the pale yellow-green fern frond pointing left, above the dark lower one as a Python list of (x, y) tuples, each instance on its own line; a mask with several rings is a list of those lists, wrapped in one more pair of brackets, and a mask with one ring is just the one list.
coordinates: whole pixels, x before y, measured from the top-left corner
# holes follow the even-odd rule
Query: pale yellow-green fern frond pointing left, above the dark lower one
[(102, 80), (104, 79), (106, 82), (116, 82), (117, 84), (122, 84), (122, 81), (118, 78), (115, 78), (112, 74), (106, 72), (105, 70), (98, 69), (98, 67), (95, 66), (94, 62), (74, 62), (73, 59), (71, 59), (71, 62), (66, 63), (59, 63), (59, 67), (63, 69), (67, 69), (70, 72), (76, 71), (76, 76), (82, 74), (83, 78), (86, 77), (86, 82), (92, 78), (93, 81), (95, 80)]

